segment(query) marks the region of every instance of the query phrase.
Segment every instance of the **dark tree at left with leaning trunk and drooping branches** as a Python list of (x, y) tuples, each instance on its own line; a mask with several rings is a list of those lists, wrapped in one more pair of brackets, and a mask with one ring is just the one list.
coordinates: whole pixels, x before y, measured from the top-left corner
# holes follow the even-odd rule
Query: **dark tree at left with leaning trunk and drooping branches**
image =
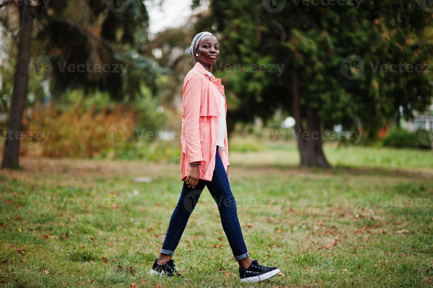
[[(114, 6), (113, 0), (50, 1), (48, 6), (42, 0), (32, 1), (32, 5), (28, 5), (29, 1), (3, 1), (0, 21), (6, 28), (12, 22), (10, 14), (19, 7), (20, 40), (8, 123), (12, 133), (8, 135), (12, 137), (6, 137), (2, 168), (19, 167), (18, 135), (22, 133), (31, 53), (49, 59), (44, 60), (45, 67), (53, 63), (48, 79), (56, 98), (67, 88), (84, 88), (87, 95), (100, 90), (108, 91), (114, 100), (132, 100), (142, 96), (142, 85), (155, 92), (155, 79), (167, 73), (163, 67), (153, 68), (153, 61), (142, 55), (142, 45), (149, 41), (146, 34), (149, 17), (145, 5), (139, 1), (128, 1), (121, 11), (116, 10), (119, 7)], [(33, 21), (37, 23), (35, 31)], [(31, 51), (32, 42), (36, 45)], [(108, 64), (113, 69), (107, 73), (87, 68), (83, 73), (62, 70), (65, 65), (78, 68), (87, 63), (100, 67)], [(125, 74), (120, 73), (120, 65), (127, 68)]]

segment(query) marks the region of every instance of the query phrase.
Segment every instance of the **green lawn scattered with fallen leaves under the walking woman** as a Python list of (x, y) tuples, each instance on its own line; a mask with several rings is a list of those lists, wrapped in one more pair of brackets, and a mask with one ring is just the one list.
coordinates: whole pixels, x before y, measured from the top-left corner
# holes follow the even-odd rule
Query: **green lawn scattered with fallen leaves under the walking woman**
[[(0, 283), (432, 285), (433, 154), (360, 146), (326, 146), (325, 153), (335, 168), (295, 167), (294, 146), (230, 154), (230, 185), (250, 257), (284, 274), (251, 285), (239, 281), (207, 188), (173, 257), (190, 282), (147, 274), (181, 191), (178, 164), (24, 158), (22, 170), (0, 175)], [(143, 175), (154, 179), (132, 181)]]

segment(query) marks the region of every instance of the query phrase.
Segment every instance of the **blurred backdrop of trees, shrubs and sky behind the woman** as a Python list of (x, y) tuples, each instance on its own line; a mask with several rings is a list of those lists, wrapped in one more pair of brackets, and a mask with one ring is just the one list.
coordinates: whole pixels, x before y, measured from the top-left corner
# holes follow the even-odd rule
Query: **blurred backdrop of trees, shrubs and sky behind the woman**
[(3, 167), (18, 152), (179, 162), (200, 31), (220, 44), (230, 151), (327, 166), (323, 146), (432, 149), (431, 7), (322, 2), (3, 1)]

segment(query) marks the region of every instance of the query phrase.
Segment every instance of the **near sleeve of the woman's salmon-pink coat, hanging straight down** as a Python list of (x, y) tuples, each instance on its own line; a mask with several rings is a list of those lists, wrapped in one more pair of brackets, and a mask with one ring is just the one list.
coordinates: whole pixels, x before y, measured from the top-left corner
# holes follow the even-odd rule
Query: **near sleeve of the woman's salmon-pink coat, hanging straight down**
[(201, 78), (191, 74), (187, 74), (185, 77), (182, 106), (188, 163), (203, 161), (199, 130), (201, 85)]

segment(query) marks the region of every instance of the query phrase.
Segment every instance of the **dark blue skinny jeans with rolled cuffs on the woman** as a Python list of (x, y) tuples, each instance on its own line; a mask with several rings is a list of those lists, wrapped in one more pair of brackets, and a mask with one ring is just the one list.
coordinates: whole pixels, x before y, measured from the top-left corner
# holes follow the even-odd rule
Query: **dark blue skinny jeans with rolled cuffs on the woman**
[(235, 256), (236, 260), (248, 257), (249, 254), (239, 225), (236, 200), (230, 189), (226, 169), (221, 161), (220, 154), (218, 154), (218, 145), (216, 146), (215, 169), (213, 170), (212, 181), (200, 179), (194, 189), (192, 187), (188, 188), (188, 184), (184, 181), (181, 196), (168, 224), (161, 253), (173, 256), (204, 186), (207, 187), (218, 206), (223, 230), (229, 240), (233, 256)]

